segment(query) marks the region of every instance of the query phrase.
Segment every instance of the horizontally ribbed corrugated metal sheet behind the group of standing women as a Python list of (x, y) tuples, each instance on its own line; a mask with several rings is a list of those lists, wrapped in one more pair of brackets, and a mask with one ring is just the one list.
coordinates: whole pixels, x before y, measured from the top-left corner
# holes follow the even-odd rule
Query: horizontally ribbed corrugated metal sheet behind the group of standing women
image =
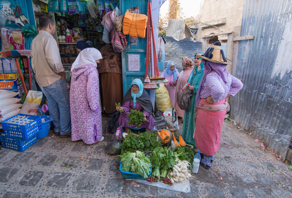
[(202, 43), (188, 37), (182, 40), (176, 40), (173, 37), (163, 36), (165, 43), (165, 67), (169, 61), (175, 63), (176, 69), (180, 72), (182, 68), (182, 57), (187, 57), (194, 61), (197, 52), (202, 51)]

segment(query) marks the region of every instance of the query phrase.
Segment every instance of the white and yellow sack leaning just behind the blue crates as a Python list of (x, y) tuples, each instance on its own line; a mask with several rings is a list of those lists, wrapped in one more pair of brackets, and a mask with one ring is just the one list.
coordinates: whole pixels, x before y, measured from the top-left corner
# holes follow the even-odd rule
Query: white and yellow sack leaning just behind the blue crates
[(23, 103), (23, 106), (20, 110), (20, 113), (36, 116), (42, 98), (43, 92), (29, 90)]

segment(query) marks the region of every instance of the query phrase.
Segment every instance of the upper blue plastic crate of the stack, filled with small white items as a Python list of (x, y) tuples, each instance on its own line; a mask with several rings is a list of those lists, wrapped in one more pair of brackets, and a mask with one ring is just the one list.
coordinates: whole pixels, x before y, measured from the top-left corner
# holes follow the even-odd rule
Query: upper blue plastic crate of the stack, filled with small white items
[(5, 135), (20, 139), (29, 139), (41, 129), (41, 117), (17, 114), (2, 123)]

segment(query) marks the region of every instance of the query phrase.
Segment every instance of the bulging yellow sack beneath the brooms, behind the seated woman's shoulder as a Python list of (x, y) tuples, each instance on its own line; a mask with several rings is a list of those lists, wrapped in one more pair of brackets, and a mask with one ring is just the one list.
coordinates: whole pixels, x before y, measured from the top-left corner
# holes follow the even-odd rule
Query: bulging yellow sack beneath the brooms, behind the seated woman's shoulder
[(161, 87), (155, 91), (155, 104), (157, 110), (164, 112), (166, 109), (172, 108), (168, 91), (163, 83)]

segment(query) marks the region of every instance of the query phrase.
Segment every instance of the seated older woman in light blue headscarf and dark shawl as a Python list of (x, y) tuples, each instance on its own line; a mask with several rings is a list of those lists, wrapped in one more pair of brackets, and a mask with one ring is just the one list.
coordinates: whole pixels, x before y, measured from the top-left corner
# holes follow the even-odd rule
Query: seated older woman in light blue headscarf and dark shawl
[[(136, 78), (131, 83), (131, 88), (127, 91), (121, 107), (116, 107), (117, 110), (124, 110), (127, 114), (131, 109), (139, 110), (144, 113), (144, 120), (140, 125), (140, 128), (146, 128), (147, 132), (151, 132), (154, 124), (153, 119), (153, 106), (148, 93), (143, 89), (143, 83), (140, 79)], [(135, 125), (128, 125), (128, 116), (124, 113), (120, 114), (119, 125), (121, 127), (135, 128)]]

